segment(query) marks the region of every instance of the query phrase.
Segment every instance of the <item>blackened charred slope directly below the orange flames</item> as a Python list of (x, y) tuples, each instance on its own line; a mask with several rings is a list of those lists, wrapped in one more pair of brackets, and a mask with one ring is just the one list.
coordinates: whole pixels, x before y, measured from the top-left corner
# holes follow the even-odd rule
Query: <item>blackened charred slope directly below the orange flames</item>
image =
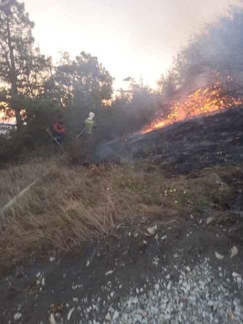
[(243, 111), (225, 112), (175, 123), (126, 141), (114, 139), (98, 146), (96, 162), (151, 158), (171, 175), (243, 160)]

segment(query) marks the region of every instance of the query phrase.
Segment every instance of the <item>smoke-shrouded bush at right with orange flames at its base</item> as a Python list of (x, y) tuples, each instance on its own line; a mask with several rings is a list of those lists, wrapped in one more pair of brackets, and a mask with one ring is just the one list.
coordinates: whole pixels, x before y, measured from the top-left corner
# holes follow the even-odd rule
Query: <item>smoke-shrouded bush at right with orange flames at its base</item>
[(143, 132), (242, 104), (242, 30), (243, 8), (230, 7), (191, 36), (158, 81), (161, 112)]

